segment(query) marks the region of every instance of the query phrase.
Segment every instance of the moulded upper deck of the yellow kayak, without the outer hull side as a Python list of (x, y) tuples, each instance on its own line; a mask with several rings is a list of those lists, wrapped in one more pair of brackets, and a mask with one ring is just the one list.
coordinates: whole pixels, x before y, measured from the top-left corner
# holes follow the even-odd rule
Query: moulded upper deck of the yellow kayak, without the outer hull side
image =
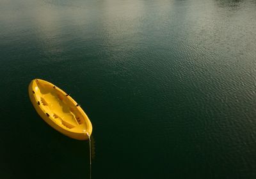
[(35, 80), (34, 85), (33, 92), (38, 105), (54, 123), (68, 131), (79, 132), (87, 128), (83, 126), (86, 125), (86, 116), (68, 94), (44, 80)]

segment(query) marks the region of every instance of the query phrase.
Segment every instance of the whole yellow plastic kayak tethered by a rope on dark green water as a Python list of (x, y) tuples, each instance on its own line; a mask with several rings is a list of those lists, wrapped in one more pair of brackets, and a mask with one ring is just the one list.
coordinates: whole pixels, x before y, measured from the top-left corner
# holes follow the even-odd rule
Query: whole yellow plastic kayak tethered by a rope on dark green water
[(37, 113), (54, 129), (76, 140), (87, 140), (92, 123), (79, 104), (63, 90), (45, 80), (29, 84), (29, 97)]

